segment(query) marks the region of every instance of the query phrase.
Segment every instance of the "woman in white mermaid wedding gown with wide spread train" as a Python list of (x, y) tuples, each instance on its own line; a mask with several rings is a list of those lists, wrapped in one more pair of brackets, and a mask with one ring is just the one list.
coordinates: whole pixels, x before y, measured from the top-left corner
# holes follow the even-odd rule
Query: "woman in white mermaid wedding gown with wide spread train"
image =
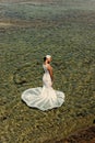
[(51, 56), (44, 57), (43, 87), (29, 88), (22, 94), (22, 100), (33, 108), (48, 110), (60, 107), (64, 102), (64, 94), (52, 88), (54, 75), (50, 66)]

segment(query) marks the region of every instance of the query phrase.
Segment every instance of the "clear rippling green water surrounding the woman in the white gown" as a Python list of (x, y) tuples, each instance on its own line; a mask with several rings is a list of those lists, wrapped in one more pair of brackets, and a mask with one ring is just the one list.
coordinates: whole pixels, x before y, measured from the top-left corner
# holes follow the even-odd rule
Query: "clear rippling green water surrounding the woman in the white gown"
[[(93, 124), (94, 4), (0, 3), (1, 143), (60, 140)], [(46, 54), (52, 55), (54, 88), (66, 94), (66, 102), (43, 112), (23, 103), (21, 94), (43, 85), (41, 64)]]

